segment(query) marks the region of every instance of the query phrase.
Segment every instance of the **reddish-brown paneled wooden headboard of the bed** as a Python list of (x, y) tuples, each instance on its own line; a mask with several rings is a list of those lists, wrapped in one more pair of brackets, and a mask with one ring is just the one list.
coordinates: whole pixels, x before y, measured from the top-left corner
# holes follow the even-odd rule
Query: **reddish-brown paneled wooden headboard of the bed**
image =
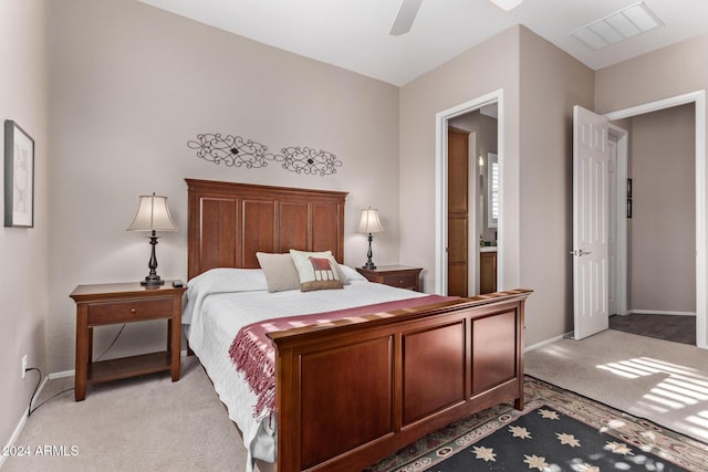
[(258, 251), (331, 250), (343, 262), (346, 192), (185, 181), (189, 279), (214, 268), (258, 268)]

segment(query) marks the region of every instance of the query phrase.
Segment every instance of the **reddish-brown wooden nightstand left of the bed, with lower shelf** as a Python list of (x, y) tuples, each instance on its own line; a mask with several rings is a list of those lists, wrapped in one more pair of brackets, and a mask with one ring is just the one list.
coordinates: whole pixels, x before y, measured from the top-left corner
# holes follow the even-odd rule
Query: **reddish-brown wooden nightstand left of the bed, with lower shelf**
[[(86, 385), (169, 370), (179, 380), (181, 296), (185, 286), (171, 281), (157, 287), (138, 282), (79, 285), (71, 293), (76, 302), (75, 399), (86, 398)], [(94, 363), (93, 328), (147, 319), (167, 319), (167, 350)]]

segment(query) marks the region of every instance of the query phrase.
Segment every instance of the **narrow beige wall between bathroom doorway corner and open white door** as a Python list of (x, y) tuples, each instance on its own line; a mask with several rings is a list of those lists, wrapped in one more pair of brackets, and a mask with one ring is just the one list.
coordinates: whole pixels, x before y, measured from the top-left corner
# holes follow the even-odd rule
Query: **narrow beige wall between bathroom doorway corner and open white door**
[(592, 107), (593, 71), (522, 29), (521, 283), (527, 346), (573, 327), (573, 105)]

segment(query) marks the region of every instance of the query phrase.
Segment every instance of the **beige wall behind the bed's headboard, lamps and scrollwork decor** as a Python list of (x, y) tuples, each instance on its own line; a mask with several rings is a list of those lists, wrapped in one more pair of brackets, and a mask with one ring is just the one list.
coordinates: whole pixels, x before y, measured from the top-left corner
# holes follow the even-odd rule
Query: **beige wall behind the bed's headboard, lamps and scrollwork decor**
[[(149, 247), (125, 229), (139, 195), (166, 195), (176, 233), (157, 247), (163, 277), (187, 276), (184, 178), (350, 192), (344, 262), (361, 265), (360, 211), (381, 211), (378, 264), (398, 262), (398, 88), (136, 1), (50, 2), (52, 238), (50, 367), (73, 369), (76, 284), (137, 281)], [(334, 176), (227, 168), (198, 159), (199, 133), (240, 135), (271, 150), (330, 150)], [(101, 353), (117, 327), (96, 333)], [(164, 326), (128, 325), (106, 357), (163, 345)]]

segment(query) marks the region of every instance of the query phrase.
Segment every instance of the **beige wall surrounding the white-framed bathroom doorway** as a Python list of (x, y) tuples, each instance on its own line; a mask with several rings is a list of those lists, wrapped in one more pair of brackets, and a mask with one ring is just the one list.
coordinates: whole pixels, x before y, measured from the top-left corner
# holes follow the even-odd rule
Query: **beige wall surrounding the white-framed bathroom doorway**
[(511, 28), (400, 88), (400, 262), (425, 269), (427, 292), (436, 285), (436, 114), (499, 88), (510, 190), (499, 235), (509, 266), (500, 285), (518, 285), (519, 34), (519, 27)]

